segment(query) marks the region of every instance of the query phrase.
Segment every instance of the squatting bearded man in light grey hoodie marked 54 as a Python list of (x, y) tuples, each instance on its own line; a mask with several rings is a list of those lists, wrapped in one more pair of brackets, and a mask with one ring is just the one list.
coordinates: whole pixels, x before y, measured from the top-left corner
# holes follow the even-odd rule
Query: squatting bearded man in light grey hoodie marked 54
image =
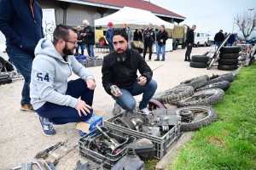
[[(38, 42), (30, 84), (31, 103), (46, 136), (55, 134), (54, 124), (89, 119), (96, 88), (90, 71), (73, 56), (78, 47), (77, 31), (71, 26), (58, 25), (53, 37), (53, 42), (46, 38)], [(67, 82), (72, 71), (80, 78)]]

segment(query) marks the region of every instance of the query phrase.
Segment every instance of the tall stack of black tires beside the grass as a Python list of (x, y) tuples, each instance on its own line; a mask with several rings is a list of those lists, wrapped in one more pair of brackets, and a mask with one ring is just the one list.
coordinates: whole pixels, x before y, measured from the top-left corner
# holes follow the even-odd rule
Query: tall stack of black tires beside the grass
[(240, 46), (222, 47), (218, 59), (218, 70), (232, 71), (237, 69)]

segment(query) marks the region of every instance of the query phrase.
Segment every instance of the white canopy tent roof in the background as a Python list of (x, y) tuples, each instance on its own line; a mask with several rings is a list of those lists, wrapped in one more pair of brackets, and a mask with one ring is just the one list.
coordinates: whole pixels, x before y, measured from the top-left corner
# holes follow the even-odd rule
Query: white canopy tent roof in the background
[(145, 29), (151, 23), (155, 27), (164, 25), (166, 28), (173, 29), (173, 24), (161, 20), (150, 11), (139, 8), (124, 7), (119, 11), (110, 14), (104, 18), (94, 21), (94, 26), (108, 26), (108, 22), (112, 22), (114, 27), (121, 27), (126, 22), (131, 28)]

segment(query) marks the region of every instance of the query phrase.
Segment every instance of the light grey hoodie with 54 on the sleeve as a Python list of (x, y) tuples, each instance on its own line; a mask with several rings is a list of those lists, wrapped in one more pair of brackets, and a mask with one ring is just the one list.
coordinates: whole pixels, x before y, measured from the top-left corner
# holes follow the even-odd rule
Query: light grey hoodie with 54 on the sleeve
[(37, 110), (46, 101), (74, 108), (78, 99), (66, 95), (67, 78), (72, 75), (73, 71), (84, 82), (89, 79), (94, 80), (90, 71), (79, 64), (73, 55), (68, 55), (67, 61), (65, 61), (56, 51), (53, 43), (46, 38), (38, 42), (35, 56), (30, 83), (30, 98), (33, 108)]

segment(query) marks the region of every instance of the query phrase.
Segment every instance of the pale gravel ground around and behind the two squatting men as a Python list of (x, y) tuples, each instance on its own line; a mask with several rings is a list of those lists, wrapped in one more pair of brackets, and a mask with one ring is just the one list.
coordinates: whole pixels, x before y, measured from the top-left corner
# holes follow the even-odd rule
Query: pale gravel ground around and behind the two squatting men
[[(193, 48), (192, 55), (201, 55), (209, 50), (209, 48)], [(103, 53), (97, 53), (100, 58)], [(86, 54), (86, 53), (85, 53)], [(158, 82), (156, 93), (164, 91), (168, 88), (177, 86), (183, 80), (201, 75), (212, 76), (212, 74), (224, 74), (229, 71), (218, 71), (217, 66), (213, 66), (210, 70), (206, 68), (189, 67), (189, 62), (184, 62), (185, 49), (166, 53), (166, 61), (154, 61), (156, 54), (152, 55), (152, 61), (148, 61), (148, 65), (154, 71), (154, 80)], [(148, 54), (146, 56), (148, 59)], [(93, 108), (95, 110), (105, 111), (103, 118), (106, 120), (113, 116), (113, 99), (102, 88), (102, 72), (101, 66), (88, 68), (96, 78), (96, 90)], [(70, 79), (76, 79), (73, 75)], [(75, 129), (75, 123), (55, 126), (56, 134), (52, 137), (46, 137), (42, 133), (38, 122), (38, 115), (34, 112), (20, 111), (20, 94), (23, 86), (23, 80), (18, 80), (11, 84), (0, 86), (0, 169), (11, 168), (21, 165), (22, 162), (35, 161), (34, 156), (40, 150), (49, 148), (58, 142), (64, 141), (77, 133), (72, 139), (73, 144), (78, 144), (79, 133)], [(136, 96), (139, 102), (142, 95)], [(61, 153), (60, 153), (61, 155)], [(52, 156), (46, 160), (54, 161)], [(73, 169), (76, 167), (76, 162), (81, 160), (86, 162), (79, 156), (79, 147), (61, 158), (57, 169)], [(40, 159), (39, 161), (44, 161)]]

